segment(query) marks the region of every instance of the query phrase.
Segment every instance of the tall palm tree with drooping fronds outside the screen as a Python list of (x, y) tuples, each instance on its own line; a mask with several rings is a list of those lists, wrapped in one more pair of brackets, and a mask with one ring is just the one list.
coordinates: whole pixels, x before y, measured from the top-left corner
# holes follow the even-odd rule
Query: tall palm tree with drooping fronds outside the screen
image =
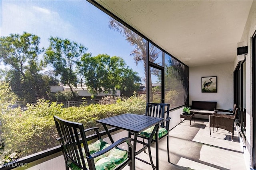
[[(126, 37), (126, 41), (128, 41), (131, 45), (134, 46), (134, 50), (131, 52), (130, 56), (134, 57), (133, 59), (136, 65), (138, 65), (138, 63), (140, 62), (143, 62), (144, 74), (146, 77), (146, 40), (114, 19), (110, 19), (108, 25), (110, 29), (118, 31), (119, 33), (124, 35)], [(157, 50), (157, 48), (154, 45), (151, 45), (149, 48), (150, 61), (154, 62), (156, 61), (158, 53), (160, 51)], [(150, 94), (149, 101), (153, 101), (151, 70), (149, 71), (148, 83)]]

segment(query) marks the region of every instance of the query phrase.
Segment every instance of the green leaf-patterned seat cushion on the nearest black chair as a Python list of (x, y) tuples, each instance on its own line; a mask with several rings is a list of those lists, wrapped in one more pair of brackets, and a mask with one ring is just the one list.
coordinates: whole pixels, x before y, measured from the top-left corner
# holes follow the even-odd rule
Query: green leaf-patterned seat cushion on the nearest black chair
[[(88, 145), (88, 148), (90, 150), (90, 154), (93, 154), (95, 152), (105, 149), (108, 146), (110, 145), (106, 141), (104, 141), (103, 139), (99, 139), (95, 143)], [(82, 151), (84, 157), (86, 157), (84, 148), (82, 148)], [(106, 152), (105, 154), (94, 158), (95, 168), (96, 170), (113, 170), (116, 166), (118, 166), (118, 164), (124, 162), (127, 159), (127, 156), (128, 154), (126, 150), (114, 148), (109, 152)], [(85, 162), (86, 167), (89, 168), (86, 159)], [(72, 170), (80, 170), (80, 168), (71, 161), (68, 162), (68, 167), (70, 167)]]

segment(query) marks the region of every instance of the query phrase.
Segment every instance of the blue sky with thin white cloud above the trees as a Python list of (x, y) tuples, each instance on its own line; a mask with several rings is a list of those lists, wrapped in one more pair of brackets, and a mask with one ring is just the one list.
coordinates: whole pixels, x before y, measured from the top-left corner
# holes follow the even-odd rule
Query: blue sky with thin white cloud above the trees
[(0, 11), (1, 36), (26, 31), (38, 35), (40, 46), (45, 48), (50, 36), (67, 38), (83, 44), (93, 56), (122, 57), (130, 68), (144, 77), (143, 64), (136, 66), (129, 56), (133, 47), (120, 33), (108, 27), (108, 15), (85, 0), (2, 0)]

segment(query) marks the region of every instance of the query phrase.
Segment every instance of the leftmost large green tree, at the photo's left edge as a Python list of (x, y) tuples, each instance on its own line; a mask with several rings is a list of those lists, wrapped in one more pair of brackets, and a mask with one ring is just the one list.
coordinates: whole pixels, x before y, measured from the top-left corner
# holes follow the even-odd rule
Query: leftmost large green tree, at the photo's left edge
[(0, 37), (0, 61), (10, 66), (6, 80), (10, 80), (12, 90), (28, 102), (47, 96), (47, 86), (39, 73), (45, 66), (38, 59), (43, 52), (39, 43), (40, 37), (26, 32)]

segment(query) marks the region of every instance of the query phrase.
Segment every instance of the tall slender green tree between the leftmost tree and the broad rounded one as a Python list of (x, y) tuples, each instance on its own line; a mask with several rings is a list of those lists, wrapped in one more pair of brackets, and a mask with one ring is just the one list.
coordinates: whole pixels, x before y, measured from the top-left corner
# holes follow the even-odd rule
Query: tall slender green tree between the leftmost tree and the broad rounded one
[(60, 75), (60, 81), (70, 87), (75, 96), (73, 86), (77, 86), (77, 73), (74, 70), (76, 63), (86, 53), (87, 48), (68, 39), (50, 37), (50, 45), (45, 52), (46, 63), (52, 64), (56, 76)]

